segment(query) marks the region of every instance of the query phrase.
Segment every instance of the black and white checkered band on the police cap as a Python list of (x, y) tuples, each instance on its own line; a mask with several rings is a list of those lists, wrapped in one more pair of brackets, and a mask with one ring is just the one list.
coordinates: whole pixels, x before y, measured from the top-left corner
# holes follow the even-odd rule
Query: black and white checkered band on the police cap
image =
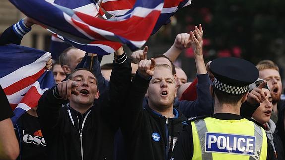
[(216, 78), (214, 79), (213, 86), (220, 91), (229, 93), (229, 94), (243, 94), (249, 90), (249, 86), (231, 86), (227, 84), (223, 84), (218, 81)]

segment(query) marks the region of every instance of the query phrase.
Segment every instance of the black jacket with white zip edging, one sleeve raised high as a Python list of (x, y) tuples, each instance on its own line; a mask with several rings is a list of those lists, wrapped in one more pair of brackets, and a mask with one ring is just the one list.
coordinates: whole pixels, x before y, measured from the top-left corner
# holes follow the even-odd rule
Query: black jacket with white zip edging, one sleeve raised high
[(57, 86), (44, 92), (37, 113), (50, 160), (113, 160), (114, 133), (131, 78), (130, 60), (122, 60), (113, 62), (109, 97), (82, 116), (72, 106), (61, 107)]

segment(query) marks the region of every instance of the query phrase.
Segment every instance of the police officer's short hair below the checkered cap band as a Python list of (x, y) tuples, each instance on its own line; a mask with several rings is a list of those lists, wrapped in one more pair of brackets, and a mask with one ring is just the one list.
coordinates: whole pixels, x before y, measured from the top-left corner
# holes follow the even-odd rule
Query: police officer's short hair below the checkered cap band
[(243, 94), (238, 94), (238, 95), (231, 95), (231, 94), (228, 94), (228, 93), (225, 93), (223, 91), (220, 91), (218, 90), (217, 88), (215, 88), (213, 86), (213, 92), (214, 92), (214, 95), (217, 97), (217, 99), (219, 100), (219, 102), (221, 104), (232, 104), (232, 105), (235, 105), (238, 103), (238, 101), (240, 101), (242, 99), (242, 97), (247, 93), (243, 93)]

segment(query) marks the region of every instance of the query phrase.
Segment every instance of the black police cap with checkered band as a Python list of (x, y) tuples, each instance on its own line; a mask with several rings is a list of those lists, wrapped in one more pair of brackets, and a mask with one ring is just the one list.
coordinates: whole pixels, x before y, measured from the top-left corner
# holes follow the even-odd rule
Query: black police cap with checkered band
[(249, 90), (249, 84), (258, 79), (257, 68), (247, 60), (240, 58), (218, 58), (210, 63), (215, 79), (213, 86), (227, 94), (243, 94)]

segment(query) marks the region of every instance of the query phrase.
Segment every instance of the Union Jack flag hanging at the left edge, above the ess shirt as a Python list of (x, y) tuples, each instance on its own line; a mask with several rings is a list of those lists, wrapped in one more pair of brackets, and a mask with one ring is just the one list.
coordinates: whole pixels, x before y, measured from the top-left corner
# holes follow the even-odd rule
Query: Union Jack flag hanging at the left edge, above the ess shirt
[(44, 91), (55, 85), (44, 67), (51, 53), (14, 44), (0, 46), (0, 84), (14, 110), (13, 123), (38, 105)]

